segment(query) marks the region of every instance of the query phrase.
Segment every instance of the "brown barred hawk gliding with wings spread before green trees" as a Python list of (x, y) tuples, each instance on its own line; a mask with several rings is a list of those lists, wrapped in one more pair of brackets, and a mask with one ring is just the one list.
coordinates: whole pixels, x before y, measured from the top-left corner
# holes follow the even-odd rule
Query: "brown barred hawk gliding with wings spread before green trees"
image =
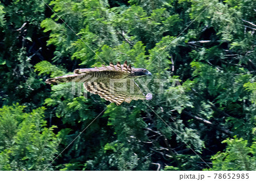
[(119, 106), (123, 102), (130, 103), (131, 100), (152, 99), (152, 94), (143, 94), (135, 78), (151, 75), (147, 69), (131, 68), (127, 61), (123, 65), (117, 62), (109, 66), (102, 65), (100, 68), (76, 69), (72, 75), (49, 78), (46, 83), (57, 84), (61, 82), (82, 82), (84, 88), (98, 94), (101, 98), (114, 102)]

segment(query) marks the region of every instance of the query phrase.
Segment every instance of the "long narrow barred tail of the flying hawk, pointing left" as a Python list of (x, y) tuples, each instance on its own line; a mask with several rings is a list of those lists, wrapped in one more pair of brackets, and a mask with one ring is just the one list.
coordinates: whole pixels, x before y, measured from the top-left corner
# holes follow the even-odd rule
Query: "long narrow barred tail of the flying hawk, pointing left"
[(61, 82), (80, 82), (84, 77), (84, 74), (63, 75), (55, 78), (48, 78), (46, 79), (46, 83), (56, 85)]

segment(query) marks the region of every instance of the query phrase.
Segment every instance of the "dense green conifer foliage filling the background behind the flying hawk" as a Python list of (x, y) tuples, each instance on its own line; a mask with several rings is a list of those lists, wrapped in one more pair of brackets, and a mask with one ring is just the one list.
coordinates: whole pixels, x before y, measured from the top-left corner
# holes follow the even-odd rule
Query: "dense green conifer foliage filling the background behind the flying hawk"
[[(255, 31), (252, 0), (0, 0), (0, 170), (256, 170)], [(118, 61), (152, 100), (45, 83)]]

